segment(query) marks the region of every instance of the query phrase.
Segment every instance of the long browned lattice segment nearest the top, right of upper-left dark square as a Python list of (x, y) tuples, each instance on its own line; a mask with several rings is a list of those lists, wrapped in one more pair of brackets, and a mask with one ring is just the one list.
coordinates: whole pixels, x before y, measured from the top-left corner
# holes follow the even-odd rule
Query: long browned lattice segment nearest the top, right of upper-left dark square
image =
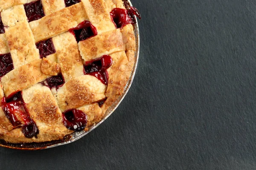
[(87, 20), (84, 7), (82, 3), (76, 3), (39, 20), (32, 21), (29, 26), (34, 34), (35, 42), (39, 42), (66, 32), (84, 20)]

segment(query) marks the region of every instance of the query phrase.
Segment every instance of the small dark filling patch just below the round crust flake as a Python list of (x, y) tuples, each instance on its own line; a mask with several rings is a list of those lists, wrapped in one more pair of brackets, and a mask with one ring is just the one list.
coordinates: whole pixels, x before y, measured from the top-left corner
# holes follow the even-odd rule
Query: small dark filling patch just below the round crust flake
[(65, 83), (64, 77), (62, 76), (61, 73), (58, 74), (57, 76), (49, 77), (48, 79), (44, 80), (44, 82), (42, 82), (43, 85), (48, 86), (50, 89), (52, 88), (58, 89), (59, 87), (64, 85), (64, 83)]

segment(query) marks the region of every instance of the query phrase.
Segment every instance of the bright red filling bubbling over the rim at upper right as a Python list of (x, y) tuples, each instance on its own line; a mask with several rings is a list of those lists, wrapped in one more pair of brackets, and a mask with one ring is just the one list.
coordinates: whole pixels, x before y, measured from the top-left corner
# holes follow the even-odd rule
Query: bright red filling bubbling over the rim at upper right
[(136, 23), (135, 16), (141, 19), (140, 12), (133, 6), (131, 6), (131, 8), (128, 10), (122, 8), (114, 8), (110, 12), (110, 15), (116, 28), (121, 29), (128, 24)]

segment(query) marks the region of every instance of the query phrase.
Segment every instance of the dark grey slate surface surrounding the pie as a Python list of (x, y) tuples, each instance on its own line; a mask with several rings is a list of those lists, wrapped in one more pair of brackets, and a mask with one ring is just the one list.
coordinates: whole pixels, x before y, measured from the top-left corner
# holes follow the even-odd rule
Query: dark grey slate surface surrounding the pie
[(1, 170), (256, 169), (256, 1), (133, 4), (140, 59), (119, 108), (72, 144), (0, 148)]

